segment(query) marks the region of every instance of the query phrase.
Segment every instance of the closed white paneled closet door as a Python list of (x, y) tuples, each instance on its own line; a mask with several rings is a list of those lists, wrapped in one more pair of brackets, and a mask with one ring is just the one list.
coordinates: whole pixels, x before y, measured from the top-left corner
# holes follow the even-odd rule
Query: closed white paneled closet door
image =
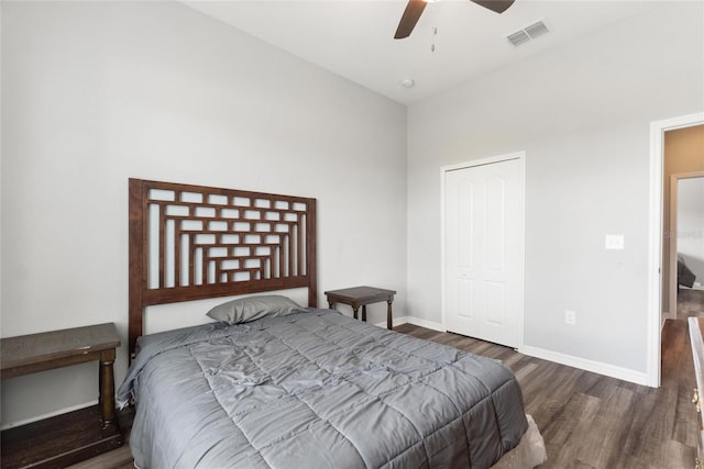
[(524, 183), (518, 158), (444, 175), (448, 331), (519, 346)]

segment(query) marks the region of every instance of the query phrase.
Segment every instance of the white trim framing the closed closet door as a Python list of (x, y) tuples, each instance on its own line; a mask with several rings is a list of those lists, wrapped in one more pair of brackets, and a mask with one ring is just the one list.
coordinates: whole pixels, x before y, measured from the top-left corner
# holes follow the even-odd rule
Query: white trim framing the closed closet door
[(470, 161), (459, 163), (454, 165), (442, 166), (440, 168), (440, 312), (442, 317), (442, 331), (447, 331), (447, 308), (446, 308), (446, 174), (464, 168), (472, 168), (475, 166), (492, 165), (502, 161), (508, 161), (517, 159), (520, 163), (519, 169), (519, 193), (522, 199), (520, 203), (519, 225), (520, 225), (520, 243), (519, 243), (519, 258), (520, 258), (520, 280), (519, 295), (520, 295), (520, 311), (518, 311), (518, 346), (517, 349), (524, 348), (524, 313), (526, 302), (526, 152), (516, 152), (505, 155), (492, 156), (481, 159), (473, 159)]

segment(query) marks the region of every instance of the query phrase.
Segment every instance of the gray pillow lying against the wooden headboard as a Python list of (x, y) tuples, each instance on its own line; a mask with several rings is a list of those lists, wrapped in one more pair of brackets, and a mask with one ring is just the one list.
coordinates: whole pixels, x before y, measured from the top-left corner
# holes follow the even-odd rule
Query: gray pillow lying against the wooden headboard
[(264, 316), (285, 316), (299, 310), (292, 299), (279, 294), (238, 298), (215, 306), (206, 313), (216, 321), (245, 323)]

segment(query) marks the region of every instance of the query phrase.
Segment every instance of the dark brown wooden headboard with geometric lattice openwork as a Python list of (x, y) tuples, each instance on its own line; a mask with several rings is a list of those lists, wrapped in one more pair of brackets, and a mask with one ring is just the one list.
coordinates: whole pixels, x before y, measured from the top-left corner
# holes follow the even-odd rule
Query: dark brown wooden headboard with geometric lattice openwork
[(308, 288), (316, 199), (130, 179), (130, 356), (144, 308)]

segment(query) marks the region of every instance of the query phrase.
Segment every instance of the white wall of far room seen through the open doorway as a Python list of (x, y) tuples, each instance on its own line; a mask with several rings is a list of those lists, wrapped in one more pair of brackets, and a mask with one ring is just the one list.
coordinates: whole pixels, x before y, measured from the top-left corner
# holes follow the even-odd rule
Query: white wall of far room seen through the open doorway
[(704, 284), (704, 177), (678, 183), (678, 254)]

